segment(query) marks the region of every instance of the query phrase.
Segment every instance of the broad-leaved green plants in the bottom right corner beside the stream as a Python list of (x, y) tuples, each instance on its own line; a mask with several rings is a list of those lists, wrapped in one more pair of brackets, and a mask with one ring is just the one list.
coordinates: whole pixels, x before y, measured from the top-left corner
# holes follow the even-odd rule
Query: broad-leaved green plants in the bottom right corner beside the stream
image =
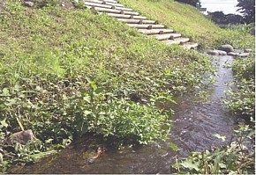
[[(222, 148), (192, 152), (173, 165), (177, 173), (191, 174), (253, 174), (255, 164), (255, 131), (249, 126), (235, 130), (234, 142)], [(249, 149), (245, 146), (248, 145)], [(252, 148), (253, 147), (253, 148)]]

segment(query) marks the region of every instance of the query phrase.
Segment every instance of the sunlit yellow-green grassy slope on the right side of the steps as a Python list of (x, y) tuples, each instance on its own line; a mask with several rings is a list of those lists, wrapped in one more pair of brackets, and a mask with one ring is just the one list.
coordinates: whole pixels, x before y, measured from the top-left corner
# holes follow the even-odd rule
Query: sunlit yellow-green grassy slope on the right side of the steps
[(173, 0), (119, 0), (119, 2), (190, 37), (193, 41), (199, 42), (201, 47), (216, 47), (220, 44), (253, 47), (254, 40), (250, 34), (223, 30), (191, 5), (179, 4)]

